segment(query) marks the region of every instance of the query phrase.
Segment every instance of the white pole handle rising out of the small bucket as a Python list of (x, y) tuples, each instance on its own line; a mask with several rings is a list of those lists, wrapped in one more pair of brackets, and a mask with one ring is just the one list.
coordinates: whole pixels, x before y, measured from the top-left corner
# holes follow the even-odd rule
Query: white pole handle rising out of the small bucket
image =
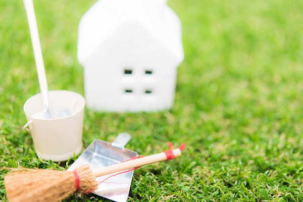
[(32, 40), (33, 50), (34, 50), (34, 57), (36, 62), (36, 69), (38, 73), (38, 79), (39, 79), (39, 85), (40, 90), (48, 90), (47, 88), (47, 82), (46, 82), (46, 76), (45, 76), (45, 69), (44, 69), (44, 63), (42, 58), (42, 52), (41, 52), (41, 45), (39, 40), (39, 33), (38, 33), (38, 27), (37, 27), (37, 21), (35, 16), (35, 10), (32, 0), (23, 0), (27, 20), (28, 20), (28, 26), (29, 26), (29, 32)]

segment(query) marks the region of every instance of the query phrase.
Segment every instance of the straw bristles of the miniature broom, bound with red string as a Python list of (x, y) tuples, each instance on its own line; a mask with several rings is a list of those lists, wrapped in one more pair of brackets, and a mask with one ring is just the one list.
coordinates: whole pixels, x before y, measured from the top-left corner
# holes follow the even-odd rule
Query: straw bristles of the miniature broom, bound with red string
[(74, 172), (17, 169), (4, 177), (5, 189), (10, 202), (19, 201), (62, 201), (76, 192), (86, 192), (97, 188), (97, 181), (89, 165), (83, 165)]

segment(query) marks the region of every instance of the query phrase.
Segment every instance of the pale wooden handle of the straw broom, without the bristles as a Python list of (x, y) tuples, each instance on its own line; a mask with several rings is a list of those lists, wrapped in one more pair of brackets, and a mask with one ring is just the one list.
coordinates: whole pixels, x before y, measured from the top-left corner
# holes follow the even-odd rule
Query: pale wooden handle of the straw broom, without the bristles
[[(174, 154), (174, 157), (180, 157), (181, 156), (181, 150), (179, 148), (173, 149), (172, 153)], [(100, 177), (108, 174), (113, 174), (116, 172), (121, 172), (124, 170), (132, 169), (132, 168), (139, 168), (141, 166), (145, 166), (148, 164), (153, 164), (160, 161), (167, 160), (167, 156), (164, 152), (150, 155), (147, 157), (142, 157), (139, 159), (131, 160), (131, 161), (125, 161), (122, 163), (118, 163), (112, 166), (107, 166), (103, 168), (99, 168), (97, 170), (93, 171), (93, 175), (95, 177)]]

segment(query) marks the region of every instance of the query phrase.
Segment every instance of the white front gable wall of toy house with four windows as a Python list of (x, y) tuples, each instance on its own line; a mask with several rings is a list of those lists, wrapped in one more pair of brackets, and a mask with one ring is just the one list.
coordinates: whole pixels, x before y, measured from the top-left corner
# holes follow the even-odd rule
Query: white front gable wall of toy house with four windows
[(86, 106), (112, 112), (170, 109), (178, 64), (153, 32), (125, 23), (84, 64)]

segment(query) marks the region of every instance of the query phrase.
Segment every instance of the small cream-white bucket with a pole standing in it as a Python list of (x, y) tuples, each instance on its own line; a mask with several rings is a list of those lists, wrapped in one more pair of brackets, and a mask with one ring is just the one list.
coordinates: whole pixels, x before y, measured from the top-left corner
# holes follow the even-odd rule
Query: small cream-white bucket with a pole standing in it
[(24, 104), (28, 121), (24, 129), (29, 127), (39, 158), (54, 162), (67, 161), (82, 150), (85, 99), (82, 95), (67, 90), (48, 92), (53, 109), (68, 110), (69, 116), (59, 119), (37, 118), (35, 115), (43, 111), (41, 94), (38, 93)]

